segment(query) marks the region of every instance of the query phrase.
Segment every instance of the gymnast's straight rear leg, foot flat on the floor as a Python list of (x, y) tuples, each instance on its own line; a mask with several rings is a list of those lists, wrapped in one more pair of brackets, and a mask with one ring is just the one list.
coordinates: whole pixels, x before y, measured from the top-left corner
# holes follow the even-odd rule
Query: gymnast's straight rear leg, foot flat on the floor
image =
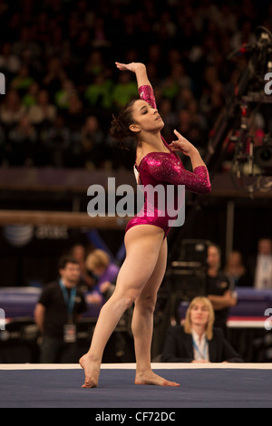
[(162, 386), (179, 386), (169, 382), (151, 370), (151, 340), (153, 334), (153, 314), (157, 293), (165, 274), (167, 264), (167, 239), (163, 240), (157, 264), (141, 294), (135, 301), (132, 317), (132, 333), (136, 355), (136, 384), (158, 384)]

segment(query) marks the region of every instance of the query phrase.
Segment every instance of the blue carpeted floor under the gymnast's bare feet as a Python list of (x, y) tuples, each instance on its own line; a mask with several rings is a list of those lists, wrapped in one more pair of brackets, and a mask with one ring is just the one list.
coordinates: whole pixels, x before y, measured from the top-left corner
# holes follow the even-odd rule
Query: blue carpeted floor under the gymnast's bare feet
[[(155, 371), (156, 372), (156, 371)], [(158, 370), (180, 387), (133, 384), (133, 370), (102, 370), (99, 387), (82, 389), (83, 370), (3, 370), (1, 408), (268, 408), (272, 371)]]

